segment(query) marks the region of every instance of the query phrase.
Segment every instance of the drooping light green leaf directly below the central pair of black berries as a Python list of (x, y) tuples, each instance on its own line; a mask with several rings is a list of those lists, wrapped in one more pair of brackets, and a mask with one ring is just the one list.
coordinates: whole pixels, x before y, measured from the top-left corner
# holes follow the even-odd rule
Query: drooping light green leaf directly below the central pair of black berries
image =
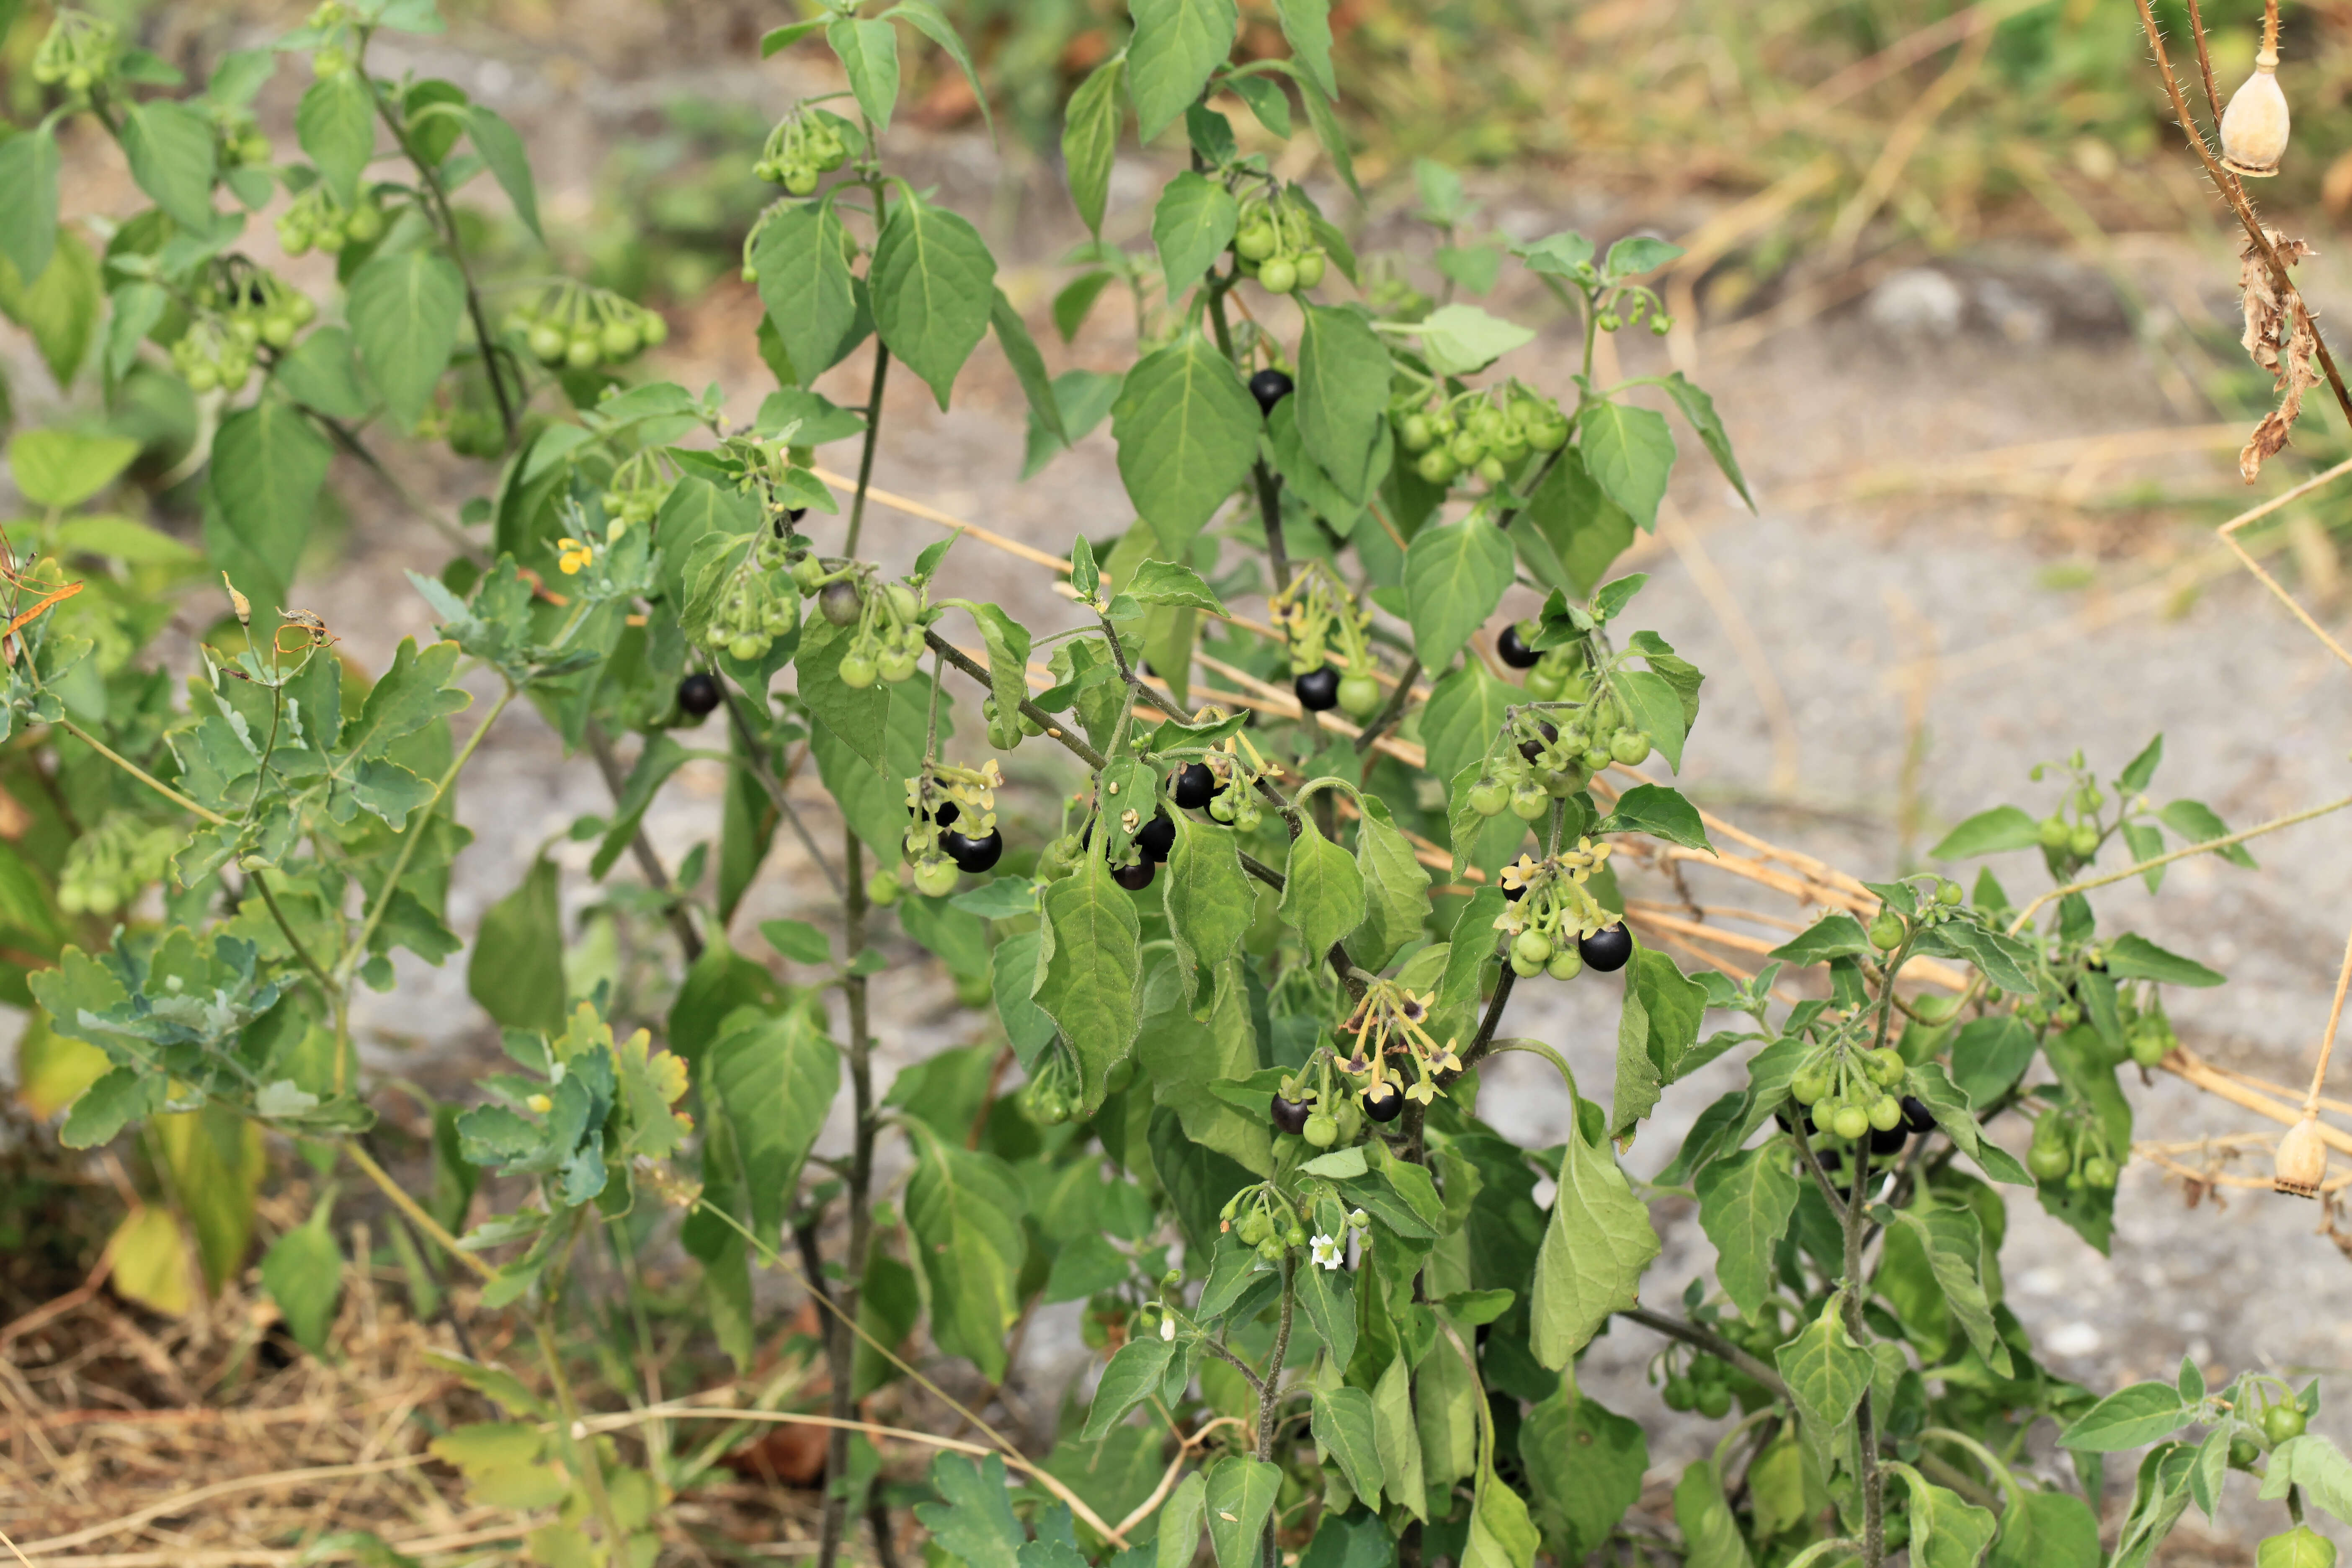
[(1077, 1056), (1077, 1117), (1103, 1105), (1105, 1079), (1127, 1060), (1143, 1027), (1141, 931), (1136, 900), (1110, 879), (1101, 858), (1047, 889), (1044, 940), (1033, 997), (1061, 1025)]

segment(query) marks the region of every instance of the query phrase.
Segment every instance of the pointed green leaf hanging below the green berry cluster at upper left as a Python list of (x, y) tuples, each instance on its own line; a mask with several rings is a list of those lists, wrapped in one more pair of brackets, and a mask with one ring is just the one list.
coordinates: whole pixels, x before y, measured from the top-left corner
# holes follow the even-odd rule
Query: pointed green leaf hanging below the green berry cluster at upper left
[(287, 604), (332, 456), (310, 421), (275, 397), (230, 414), (212, 437), (205, 550), (263, 625)]

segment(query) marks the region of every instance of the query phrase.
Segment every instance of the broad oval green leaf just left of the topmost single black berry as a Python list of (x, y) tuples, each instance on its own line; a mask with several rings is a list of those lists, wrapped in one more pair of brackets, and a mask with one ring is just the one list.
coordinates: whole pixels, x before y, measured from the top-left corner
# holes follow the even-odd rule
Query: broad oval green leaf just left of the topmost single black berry
[(1110, 409), (1120, 480), (1169, 555), (1185, 557), (1192, 536), (1249, 477), (1258, 425), (1256, 400), (1200, 331), (1127, 374)]

